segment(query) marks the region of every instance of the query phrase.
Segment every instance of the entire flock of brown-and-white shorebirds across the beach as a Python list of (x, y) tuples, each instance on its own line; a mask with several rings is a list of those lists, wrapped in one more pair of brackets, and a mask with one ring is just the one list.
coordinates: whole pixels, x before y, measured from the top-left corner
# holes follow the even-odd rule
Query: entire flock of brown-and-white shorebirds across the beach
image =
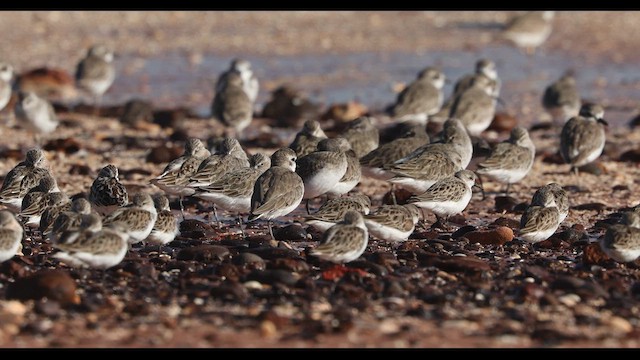
[[(553, 12), (531, 12), (513, 20), (504, 36), (518, 46), (534, 49), (551, 31)], [(12, 95), (13, 70), (0, 64), (0, 109)], [(76, 83), (96, 103), (115, 79), (113, 52), (103, 45), (92, 47), (77, 66)], [(271, 156), (248, 156), (237, 139), (252, 121), (259, 90), (251, 64), (236, 59), (215, 85), (212, 117), (229, 130), (223, 139), (203, 144), (191, 138), (182, 156), (166, 165), (151, 183), (166, 195), (178, 196), (184, 218), (183, 198), (196, 197), (216, 208), (242, 215), (248, 221), (282, 218), (306, 201), (304, 221), (323, 232), (310, 254), (336, 263), (357, 259), (369, 236), (405, 241), (414, 232), (423, 210), (436, 216), (434, 227), (449, 228), (447, 219), (462, 212), (479, 188), (478, 175), (506, 185), (522, 180), (531, 170), (535, 145), (523, 127), (515, 127), (509, 139), (495, 146), (478, 163), (467, 167), (473, 156), (472, 137), (480, 136), (495, 116), (500, 92), (496, 65), (477, 61), (475, 72), (459, 79), (451, 96), (444, 98), (445, 74), (427, 67), (397, 96), (388, 115), (406, 125), (396, 139), (380, 144), (375, 118), (363, 116), (348, 124), (339, 136), (328, 138), (316, 120), (308, 120), (293, 142)], [(51, 104), (32, 92), (19, 92), (16, 118), (34, 134), (55, 130), (59, 122)], [(582, 104), (572, 74), (563, 75), (544, 91), (544, 108), (556, 124), (563, 124), (561, 155), (572, 169), (597, 159), (605, 144), (604, 110)], [(433, 139), (427, 121), (446, 119)], [(432, 141), (433, 140), (433, 141)], [(354, 191), (361, 176), (387, 181), (413, 196), (402, 205), (382, 205), (371, 210), (371, 199)], [(481, 188), (481, 187), (480, 187)], [(311, 213), (309, 201), (326, 196)], [(484, 196), (484, 192), (483, 192)], [(70, 199), (47, 169), (39, 148), (27, 152), (24, 161), (6, 176), (0, 190), (0, 262), (20, 253), (24, 226), (37, 228), (50, 241), (54, 257), (71, 266), (109, 268), (122, 261), (133, 243), (167, 244), (179, 233), (178, 218), (165, 195), (140, 192), (131, 196), (118, 179), (118, 168), (109, 164), (99, 171), (88, 196)], [(394, 203), (395, 203), (394, 198)], [(551, 183), (538, 189), (521, 217), (518, 236), (537, 243), (548, 239), (566, 218), (569, 200), (562, 186)], [(17, 214), (17, 215), (16, 215)], [(621, 262), (635, 260), (640, 250), (640, 212), (629, 213), (622, 224), (611, 226), (602, 249)]]

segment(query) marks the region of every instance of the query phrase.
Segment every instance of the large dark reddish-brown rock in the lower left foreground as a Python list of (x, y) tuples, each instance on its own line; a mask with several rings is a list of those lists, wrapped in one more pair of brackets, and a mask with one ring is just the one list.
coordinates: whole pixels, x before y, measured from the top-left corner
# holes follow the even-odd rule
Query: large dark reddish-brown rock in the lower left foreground
[(7, 298), (18, 300), (38, 300), (49, 298), (61, 305), (79, 304), (76, 282), (65, 270), (40, 270), (37, 273), (18, 278), (7, 287)]

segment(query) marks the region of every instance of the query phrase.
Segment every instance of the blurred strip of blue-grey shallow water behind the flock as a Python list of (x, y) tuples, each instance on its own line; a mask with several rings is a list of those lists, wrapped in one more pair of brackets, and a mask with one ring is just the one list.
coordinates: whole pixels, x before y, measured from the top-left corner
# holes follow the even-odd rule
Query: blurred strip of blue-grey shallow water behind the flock
[[(522, 121), (542, 114), (544, 88), (573, 69), (582, 97), (607, 106), (606, 118), (613, 126), (626, 123), (635, 114), (640, 98), (640, 72), (636, 64), (611, 63), (598, 57), (572, 57), (564, 52), (539, 50), (529, 57), (510, 46), (474, 50), (428, 51), (424, 53), (366, 52), (264, 57), (239, 54), (252, 62), (260, 80), (258, 109), (269, 100), (275, 87), (292, 83), (314, 101), (324, 104), (358, 100), (371, 110), (380, 110), (395, 100), (392, 86), (412, 81), (429, 65), (440, 66), (455, 81), (473, 70), (477, 59), (496, 61), (502, 79), (501, 97), (509, 112)], [(105, 103), (123, 103), (131, 98), (152, 101), (155, 106), (185, 106), (209, 115), (213, 84), (228, 68), (229, 56), (205, 54), (190, 61), (186, 54), (167, 53), (154, 58), (127, 56), (118, 59), (117, 80), (105, 95)], [(445, 86), (445, 94), (452, 84)]]

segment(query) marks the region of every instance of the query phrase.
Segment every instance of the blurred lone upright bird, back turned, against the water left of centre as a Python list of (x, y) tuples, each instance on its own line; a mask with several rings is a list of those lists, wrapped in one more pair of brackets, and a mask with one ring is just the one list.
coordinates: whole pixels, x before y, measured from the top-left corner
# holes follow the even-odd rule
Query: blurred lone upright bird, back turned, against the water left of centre
[[(216, 91), (211, 104), (211, 115), (227, 127), (227, 137), (242, 137), (242, 131), (253, 119), (253, 102), (243, 89), (239, 73), (230, 72), (226, 85)], [(233, 134), (229, 134), (230, 128), (233, 129)]]

